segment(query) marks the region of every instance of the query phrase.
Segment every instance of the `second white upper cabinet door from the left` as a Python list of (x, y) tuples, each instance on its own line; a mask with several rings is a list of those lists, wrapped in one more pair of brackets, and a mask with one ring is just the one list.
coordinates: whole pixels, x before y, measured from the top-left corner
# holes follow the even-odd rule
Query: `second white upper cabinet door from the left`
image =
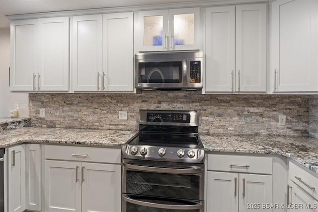
[(40, 91), (69, 90), (69, 17), (39, 19)]

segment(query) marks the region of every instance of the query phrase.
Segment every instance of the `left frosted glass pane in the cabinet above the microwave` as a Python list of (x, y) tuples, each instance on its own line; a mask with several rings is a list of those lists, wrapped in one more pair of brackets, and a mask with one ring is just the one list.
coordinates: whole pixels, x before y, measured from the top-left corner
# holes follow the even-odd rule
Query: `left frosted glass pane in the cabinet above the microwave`
[(144, 46), (162, 46), (163, 16), (144, 17)]

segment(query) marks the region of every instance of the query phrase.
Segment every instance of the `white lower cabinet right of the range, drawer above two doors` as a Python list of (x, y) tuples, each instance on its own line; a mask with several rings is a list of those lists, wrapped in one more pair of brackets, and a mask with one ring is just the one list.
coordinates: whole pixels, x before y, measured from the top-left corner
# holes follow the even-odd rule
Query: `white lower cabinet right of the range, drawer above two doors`
[[(272, 175), (268, 173), (272, 166), (271, 159), (208, 155), (207, 212), (271, 211), (266, 207), (266, 204), (273, 202)], [(264, 170), (259, 167), (264, 167)], [(239, 173), (257, 169), (260, 170), (259, 174)]]

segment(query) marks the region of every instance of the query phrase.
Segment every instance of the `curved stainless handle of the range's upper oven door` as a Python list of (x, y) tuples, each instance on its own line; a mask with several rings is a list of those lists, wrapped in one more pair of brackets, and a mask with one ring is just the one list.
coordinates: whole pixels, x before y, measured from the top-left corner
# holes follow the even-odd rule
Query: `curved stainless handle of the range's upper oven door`
[(152, 166), (138, 166), (138, 165), (132, 165), (129, 163), (123, 163), (123, 165), (125, 168), (133, 169), (133, 170), (169, 173), (169, 174), (200, 174), (204, 170), (201, 167), (196, 167), (193, 169), (182, 169), (182, 168), (161, 168), (161, 167), (152, 167)]

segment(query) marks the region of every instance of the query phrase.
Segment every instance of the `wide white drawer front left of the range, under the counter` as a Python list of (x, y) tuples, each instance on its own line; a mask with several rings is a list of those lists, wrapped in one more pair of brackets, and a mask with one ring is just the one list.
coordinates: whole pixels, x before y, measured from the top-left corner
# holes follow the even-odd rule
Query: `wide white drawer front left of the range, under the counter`
[(120, 148), (44, 145), (44, 158), (86, 162), (121, 163)]

